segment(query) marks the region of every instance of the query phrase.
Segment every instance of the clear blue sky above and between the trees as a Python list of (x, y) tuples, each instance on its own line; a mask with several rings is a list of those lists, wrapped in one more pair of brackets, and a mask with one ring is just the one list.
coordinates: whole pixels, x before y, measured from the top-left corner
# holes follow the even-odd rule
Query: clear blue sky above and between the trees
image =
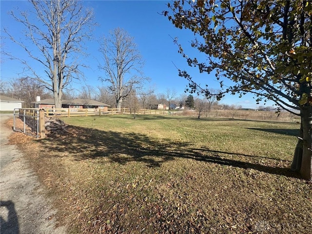
[[(219, 89), (214, 74), (199, 74), (195, 68), (189, 67), (185, 59), (177, 53), (178, 48), (172, 39), (175, 37), (178, 38), (179, 43), (183, 45), (190, 57), (205, 59), (204, 55), (190, 50), (189, 42), (194, 38), (191, 31), (175, 28), (166, 17), (160, 15), (163, 10), (167, 9), (168, 1), (91, 0), (82, 3), (85, 7), (94, 9), (95, 20), (99, 24), (94, 30), (94, 39), (85, 44), (87, 53), (90, 54), (88, 58), (82, 58), (89, 66), (89, 68), (83, 69), (85, 83), (95, 87), (102, 85), (98, 80), (98, 77), (103, 74), (98, 70), (97, 59), (100, 59), (101, 55), (98, 52), (97, 40), (101, 36), (107, 35), (110, 30), (120, 27), (134, 37), (138, 50), (145, 60), (144, 75), (151, 79), (146, 86), (154, 87), (156, 94), (165, 93), (168, 88), (175, 89), (178, 95), (184, 93), (188, 82), (186, 79), (178, 77), (176, 67), (181, 70), (186, 69), (198, 83), (208, 84), (210, 88)], [(15, 37), (21, 38), (21, 25), (13, 20), (7, 12), (27, 10), (29, 6), (30, 4), (24, 0), (1, 0), (1, 30), (6, 27)], [(16, 9), (17, 7), (19, 10)], [(3, 33), (1, 36), (4, 36)], [(20, 47), (8, 39), (1, 39), (1, 46), (15, 56), (25, 56)], [(23, 66), (18, 61), (1, 58), (0, 65), (1, 80), (3, 81), (23, 75)], [(84, 81), (81, 81), (81, 83), (74, 84), (74, 87), (79, 89), (83, 84)], [(225, 84), (230, 85), (230, 82), (225, 82)], [(227, 95), (220, 103), (254, 108), (256, 102), (252, 97), (248, 95), (238, 98), (238, 96)]]

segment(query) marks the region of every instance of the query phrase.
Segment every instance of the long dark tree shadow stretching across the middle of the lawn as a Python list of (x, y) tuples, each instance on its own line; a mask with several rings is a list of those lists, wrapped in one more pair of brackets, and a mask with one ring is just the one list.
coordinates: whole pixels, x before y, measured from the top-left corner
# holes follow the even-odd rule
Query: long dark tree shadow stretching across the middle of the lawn
[[(62, 136), (49, 136), (40, 139), (44, 151), (51, 151), (54, 157), (60, 153), (75, 156), (75, 160), (105, 157), (113, 162), (127, 164), (129, 162), (145, 163), (148, 167), (159, 167), (161, 163), (177, 158), (188, 158), (196, 161), (233, 166), (274, 175), (298, 178), (289, 168), (274, 166), (281, 160), (273, 159), (273, 166), (260, 165), (256, 158), (231, 152), (214, 151), (207, 148), (195, 148), (192, 142), (173, 141), (172, 139), (156, 139), (146, 134), (102, 131), (93, 128), (69, 125)], [(61, 156), (61, 155), (60, 155)], [(257, 160), (258, 160), (257, 159)]]

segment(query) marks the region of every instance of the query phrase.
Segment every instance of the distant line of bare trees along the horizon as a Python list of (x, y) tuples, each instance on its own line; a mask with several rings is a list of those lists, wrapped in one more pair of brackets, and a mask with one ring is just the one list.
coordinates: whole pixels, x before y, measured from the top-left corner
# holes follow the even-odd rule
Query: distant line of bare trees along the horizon
[[(24, 101), (23, 108), (33, 107), (32, 102), (36, 101), (37, 96), (40, 96), (41, 100), (53, 98), (51, 92), (48, 92), (38, 81), (31, 78), (16, 78), (9, 82), (1, 81), (0, 95)], [(117, 108), (114, 95), (105, 86), (94, 87), (92, 85), (85, 85), (79, 90), (67, 90), (63, 93), (64, 100), (75, 98), (96, 100), (108, 104), (112, 108)], [(211, 111), (213, 108), (222, 110), (242, 108), (239, 105), (220, 104), (215, 98), (194, 98), (193, 95), (187, 95), (185, 93), (178, 95), (175, 89), (167, 89), (165, 93), (157, 94), (154, 90), (150, 90), (147, 94), (133, 93), (124, 100), (122, 107), (154, 110), (157, 109), (158, 104), (165, 104), (170, 110), (194, 109), (198, 111)], [(262, 107), (259, 110), (262, 110)]]

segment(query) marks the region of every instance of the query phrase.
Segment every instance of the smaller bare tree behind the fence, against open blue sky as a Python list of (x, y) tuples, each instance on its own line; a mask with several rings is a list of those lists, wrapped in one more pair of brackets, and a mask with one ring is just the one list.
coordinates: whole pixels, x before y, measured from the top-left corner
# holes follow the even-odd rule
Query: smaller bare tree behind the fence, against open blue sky
[(142, 74), (142, 57), (134, 38), (120, 28), (102, 38), (99, 51), (103, 61), (98, 68), (105, 73), (99, 79), (109, 83), (108, 87), (115, 96), (116, 106), (120, 109), (122, 101), (141, 88), (148, 79)]

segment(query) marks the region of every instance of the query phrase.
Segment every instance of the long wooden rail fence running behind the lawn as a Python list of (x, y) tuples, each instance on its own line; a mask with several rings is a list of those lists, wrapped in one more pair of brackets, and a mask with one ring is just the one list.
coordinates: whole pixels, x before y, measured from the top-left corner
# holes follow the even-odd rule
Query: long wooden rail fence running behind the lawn
[(106, 115), (123, 115), (123, 114), (137, 114), (137, 115), (169, 115), (168, 110), (148, 110), (148, 109), (131, 109), (131, 108), (47, 108), (45, 109), (46, 116), (58, 117), (78, 117), (78, 116), (106, 116)]

